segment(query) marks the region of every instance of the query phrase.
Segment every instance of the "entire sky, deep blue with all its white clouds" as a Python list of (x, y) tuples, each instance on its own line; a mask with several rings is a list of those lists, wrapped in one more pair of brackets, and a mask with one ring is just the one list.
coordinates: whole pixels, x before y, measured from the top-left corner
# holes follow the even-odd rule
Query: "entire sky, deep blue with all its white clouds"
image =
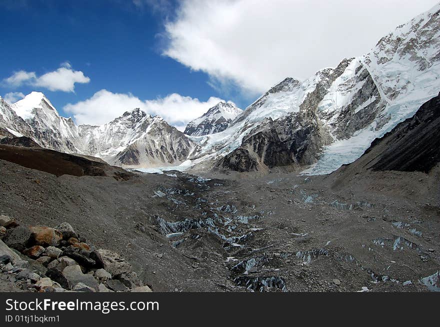
[(0, 95), (41, 91), (77, 123), (139, 106), (182, 129), (366, 53), (436, 2), (1, 0)]

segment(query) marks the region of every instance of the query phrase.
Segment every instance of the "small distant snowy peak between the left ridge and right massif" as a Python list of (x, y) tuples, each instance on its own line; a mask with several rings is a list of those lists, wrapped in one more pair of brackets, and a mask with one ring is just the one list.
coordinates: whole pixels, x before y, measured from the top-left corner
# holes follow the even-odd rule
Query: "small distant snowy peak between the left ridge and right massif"
[(202, 116), (190, 121), (184, 133), (192, 136), (202, 136), (224, 131), (229, 124), (242, 112), (234, 104), (219, 102), (209, 108)]

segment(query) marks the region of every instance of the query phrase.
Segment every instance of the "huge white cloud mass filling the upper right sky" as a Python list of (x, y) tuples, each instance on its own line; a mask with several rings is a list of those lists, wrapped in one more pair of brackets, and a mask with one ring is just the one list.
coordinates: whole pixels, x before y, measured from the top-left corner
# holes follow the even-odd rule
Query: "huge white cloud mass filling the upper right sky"
[(219, 87), (261, 93), (364, 54), (436, 0), (183, 0), (165, 23), (163, 54)]

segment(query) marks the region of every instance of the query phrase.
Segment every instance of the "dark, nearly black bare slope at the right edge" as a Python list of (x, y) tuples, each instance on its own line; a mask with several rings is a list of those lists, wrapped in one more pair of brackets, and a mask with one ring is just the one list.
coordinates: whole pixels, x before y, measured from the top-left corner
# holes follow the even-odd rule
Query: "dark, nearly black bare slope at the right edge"
[(414, 116), (375, 139), (364, 156), (371, 155), (376, 147), (382, 151), (372, 158), (373, 170), (429, 172), (440, 162), (440, 93)]

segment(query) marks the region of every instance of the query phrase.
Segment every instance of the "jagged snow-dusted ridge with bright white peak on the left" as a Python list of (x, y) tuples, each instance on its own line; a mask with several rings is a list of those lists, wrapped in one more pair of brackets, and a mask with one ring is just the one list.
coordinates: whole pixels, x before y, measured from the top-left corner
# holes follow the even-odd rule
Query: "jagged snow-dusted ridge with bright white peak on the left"
[(42, 147), (102, 158), (123, 167), (178, 165), (193, 148), (183, 133), (140, 109), (100, 125), (76, 126), (50, 101), (32, 92), (9, 105), (0, 99), (0, 135), (27, 136)]

